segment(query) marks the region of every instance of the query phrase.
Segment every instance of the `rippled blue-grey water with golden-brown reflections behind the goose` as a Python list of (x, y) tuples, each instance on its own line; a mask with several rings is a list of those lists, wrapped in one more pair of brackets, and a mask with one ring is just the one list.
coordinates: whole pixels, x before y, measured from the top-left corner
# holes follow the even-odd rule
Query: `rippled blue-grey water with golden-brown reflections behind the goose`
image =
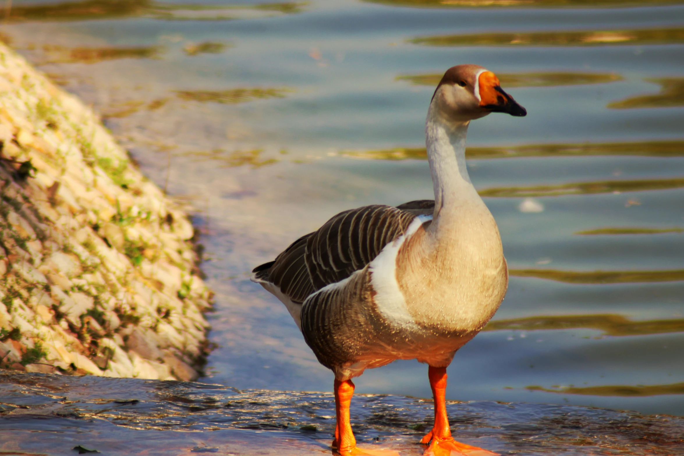
[[(241, 389), (331, 390), (249, 271), (344, 209), (432, 198), (435, 75), (486, 66), (529, 112), (469, 133), (512, 277), (447, 397), (684, 415), (684, 2), (471, 3), (15, 0), (2, 33), (194, 213), (205, 381)], [(426, 371), (357, 391), (430, 397)]]

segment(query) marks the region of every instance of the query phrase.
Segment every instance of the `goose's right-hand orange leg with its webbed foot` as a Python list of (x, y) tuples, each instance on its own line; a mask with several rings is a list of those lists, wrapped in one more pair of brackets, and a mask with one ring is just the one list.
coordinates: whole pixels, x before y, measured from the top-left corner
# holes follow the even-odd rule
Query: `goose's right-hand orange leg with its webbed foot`
[(422, 444), (430, 444), (423, 455), (454, 456), (454, 453), (451, 453), (453, 451), (456, 455), (498, 456), (497, 453), (453, 440), (451, 429), (449, 429), (449, 417), (447, 416), (447, 368), (430, 366), (428, 378), (430, 379), (430, 388), (432, 388), (432, 397), (434, 397), (434, 427), (421, 439)]

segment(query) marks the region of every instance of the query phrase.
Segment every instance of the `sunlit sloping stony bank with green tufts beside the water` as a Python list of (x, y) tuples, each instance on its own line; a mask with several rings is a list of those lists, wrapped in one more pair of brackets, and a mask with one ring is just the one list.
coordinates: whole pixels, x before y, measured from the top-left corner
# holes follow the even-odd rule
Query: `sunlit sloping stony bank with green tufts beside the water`
[(98, 117), (0, 44), (0, 368), (195, 379), (194, 230)]

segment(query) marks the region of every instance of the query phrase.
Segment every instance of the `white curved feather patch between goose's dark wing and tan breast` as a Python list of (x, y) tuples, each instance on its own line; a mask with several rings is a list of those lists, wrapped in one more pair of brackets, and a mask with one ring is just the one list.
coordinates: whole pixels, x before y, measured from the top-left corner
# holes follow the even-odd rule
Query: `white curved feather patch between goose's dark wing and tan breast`
[(419, 330), (406, 307), (406, 299), (397, 282), (397, 254), (406, 239), (412, 236), (423, 223), (432, 220), (432, 215), (419, 215), (408, 226), (406, 232), (393, 242), (384, 246), (382, 251), (369, 264), (371, 286), (378, 293), (375, 297), (378, 311), (393, 326)]

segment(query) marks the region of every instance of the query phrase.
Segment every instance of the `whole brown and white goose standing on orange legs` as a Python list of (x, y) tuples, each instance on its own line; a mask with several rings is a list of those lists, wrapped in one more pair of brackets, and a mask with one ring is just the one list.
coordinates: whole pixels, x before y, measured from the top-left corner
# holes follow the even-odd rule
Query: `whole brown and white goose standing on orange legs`
[(352, 378), (412, 359), (428, 364), (434, 397), (423, 454), (497, 454), (454, 440), (445, 404), (447, 366), (508, 287), (499, 228), (465, 160), (469, 123), (492, 112), (527, 114), (486, 68), (449, 68), (425, 122), (434, 200), (343, 211), (252, 271), (252, 281), (285, 304), (306, 344), (334, 373), (332, 450), (341, 456), (377, 454), (356, 447)]

